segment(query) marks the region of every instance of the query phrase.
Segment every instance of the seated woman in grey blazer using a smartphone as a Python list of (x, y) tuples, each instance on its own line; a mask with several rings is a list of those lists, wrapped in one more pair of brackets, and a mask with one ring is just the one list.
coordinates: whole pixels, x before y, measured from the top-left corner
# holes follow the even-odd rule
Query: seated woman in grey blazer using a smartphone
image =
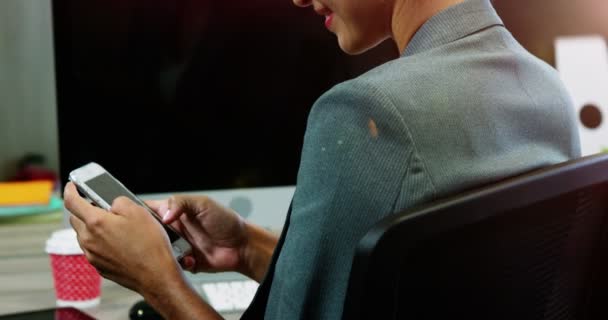
[[(193, 244), (185, 269), (261, 281), (246, 318), (339, 319), (354, 247), (376, 221), (579, 155), (558, 76), (513, 39), (489, 0), (294, 2), (325, 16), (347, 53), (390, 38), (402, 55), (315, 103), (280, 240), (208, 198), (150, 203)], [(119, 198), (107, 214), (71, 184), (65, 201), (103, 276), (166, 318), (219, 318), (142, 208)]]

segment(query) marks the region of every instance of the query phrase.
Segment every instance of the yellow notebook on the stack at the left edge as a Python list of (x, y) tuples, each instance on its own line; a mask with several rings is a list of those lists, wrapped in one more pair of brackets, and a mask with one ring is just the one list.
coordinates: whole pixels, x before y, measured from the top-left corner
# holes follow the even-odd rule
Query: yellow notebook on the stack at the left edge
[(51, 181), (0, 183), (0, 206), (46, 205), (52, 191)]

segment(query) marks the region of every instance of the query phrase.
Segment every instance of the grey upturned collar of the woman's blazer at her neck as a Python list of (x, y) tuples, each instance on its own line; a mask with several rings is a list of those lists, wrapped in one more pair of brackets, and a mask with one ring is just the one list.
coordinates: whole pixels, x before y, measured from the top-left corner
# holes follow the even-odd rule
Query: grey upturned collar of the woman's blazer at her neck
[(412, 56), (492, 26), (504, 24), (490, 0), (466, 0), (427, 20), (418, 29), (402, 56)]

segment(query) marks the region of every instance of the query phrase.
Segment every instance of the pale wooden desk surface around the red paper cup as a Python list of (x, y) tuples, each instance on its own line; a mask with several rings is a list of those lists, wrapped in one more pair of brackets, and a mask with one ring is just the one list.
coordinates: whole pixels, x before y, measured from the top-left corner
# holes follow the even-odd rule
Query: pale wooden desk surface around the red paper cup
[[(53, 278), (44, 243), (60, 229), (59, 222), (0, 225), (0, 314), (55, 306)], [(84, 311), (99, 320), (128, 319), (128, 310), (141, 296), (103, 280), (101, 304)], [(238, 319), (240, 314), (224, 314)]]

